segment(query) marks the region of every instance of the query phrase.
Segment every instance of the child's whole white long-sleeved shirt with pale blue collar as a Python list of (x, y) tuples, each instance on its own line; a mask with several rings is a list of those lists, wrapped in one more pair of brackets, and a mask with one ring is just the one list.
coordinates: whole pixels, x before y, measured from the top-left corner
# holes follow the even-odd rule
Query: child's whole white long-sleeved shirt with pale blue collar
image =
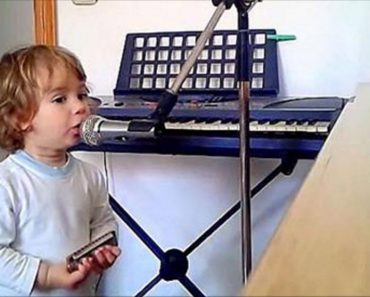
[(116, 230), (104, 177), (68, 155), (52, 167), (17, 151), (0, 163), (0, 296), (91, 296), (92, 278), (77, 290), (34, 290), (41, 260), (63, 263), (76, 249)]

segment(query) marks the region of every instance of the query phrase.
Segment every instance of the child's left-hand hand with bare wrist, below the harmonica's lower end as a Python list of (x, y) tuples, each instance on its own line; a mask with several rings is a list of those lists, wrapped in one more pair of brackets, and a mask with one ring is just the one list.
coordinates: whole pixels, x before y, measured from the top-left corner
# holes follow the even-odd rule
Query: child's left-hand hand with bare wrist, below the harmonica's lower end
[(36, 288), (39, 290), (75, 289), (92, 270), (92, 264), (86, 258), (78, 264), (77, 270), (73, 272), (67, 270), (65, 263), (46, 264), (42, 262), (37, 275)]

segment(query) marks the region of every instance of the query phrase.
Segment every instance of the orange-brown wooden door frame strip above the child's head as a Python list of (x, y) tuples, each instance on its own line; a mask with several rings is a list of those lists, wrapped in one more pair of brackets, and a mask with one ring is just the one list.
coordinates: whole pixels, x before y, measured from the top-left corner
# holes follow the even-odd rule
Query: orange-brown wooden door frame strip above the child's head
[(34, 0), (33, 2), (35, 43), (56, 45), (55, 0)]

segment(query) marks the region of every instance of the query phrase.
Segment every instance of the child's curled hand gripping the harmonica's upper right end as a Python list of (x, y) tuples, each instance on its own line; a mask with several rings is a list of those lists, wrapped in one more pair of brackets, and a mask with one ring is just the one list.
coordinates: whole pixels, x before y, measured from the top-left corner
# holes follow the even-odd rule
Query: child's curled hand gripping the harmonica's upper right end
[(119, 247), (104, 245), (98, 248), (92, 257), (88, 258), (88, 262), (91, 264), (92, 270), (99, 274), (111, 267), (120, 254), (121, 249)]

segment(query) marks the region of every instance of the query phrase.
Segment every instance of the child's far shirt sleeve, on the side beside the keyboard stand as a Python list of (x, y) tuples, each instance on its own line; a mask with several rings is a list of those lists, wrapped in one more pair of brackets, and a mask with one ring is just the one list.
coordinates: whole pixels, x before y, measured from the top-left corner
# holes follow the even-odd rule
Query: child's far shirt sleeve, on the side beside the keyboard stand
[(92, 199), (92, 218), (90, 223), (91, 240), (110, 232), (117, 233), (117, 221), (113, 214), (113, 210), (109, 204), (108, 189), (103, 175), (100, 171), (97, 173), (97, 182), (91, 183), (96, 186), (93, 191)]

